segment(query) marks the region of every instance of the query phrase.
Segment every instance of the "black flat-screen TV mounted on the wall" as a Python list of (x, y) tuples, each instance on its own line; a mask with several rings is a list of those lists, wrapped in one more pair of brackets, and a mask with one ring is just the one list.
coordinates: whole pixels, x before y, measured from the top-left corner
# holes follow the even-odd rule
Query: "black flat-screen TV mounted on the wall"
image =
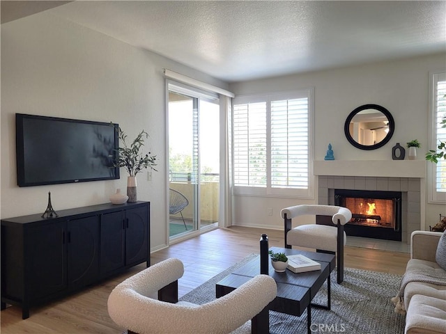
[(15, 128), (19, 186), (119, 178), (117, 124), (16, 113)]

